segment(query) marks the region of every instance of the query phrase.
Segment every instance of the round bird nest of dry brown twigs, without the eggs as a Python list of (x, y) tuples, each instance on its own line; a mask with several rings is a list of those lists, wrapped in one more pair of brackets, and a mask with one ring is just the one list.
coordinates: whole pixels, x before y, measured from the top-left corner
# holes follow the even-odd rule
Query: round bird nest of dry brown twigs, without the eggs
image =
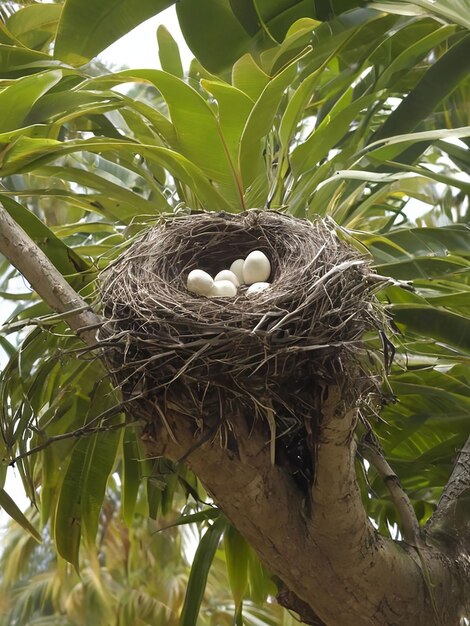
[[(271, 262), (269, 289), (242, 287), (234, 298), (186, 289), (191, 270), (214, 275), (253, 250)], [(387, 324), (379, 284), (368, 258), (321, 219), (175, 216), (102, 276), (100, 339), (130, 412), (149, 428), (170, 409), (191, 420), (196, 438), (206, 432), (236, 446), (233, 425), (244, 419), (266, 430), (273, 457), (282, 448), (302, 464), (330, 387), (340, 388), (345, 410), (378, 389), (381, 367), (364, 335)]]

